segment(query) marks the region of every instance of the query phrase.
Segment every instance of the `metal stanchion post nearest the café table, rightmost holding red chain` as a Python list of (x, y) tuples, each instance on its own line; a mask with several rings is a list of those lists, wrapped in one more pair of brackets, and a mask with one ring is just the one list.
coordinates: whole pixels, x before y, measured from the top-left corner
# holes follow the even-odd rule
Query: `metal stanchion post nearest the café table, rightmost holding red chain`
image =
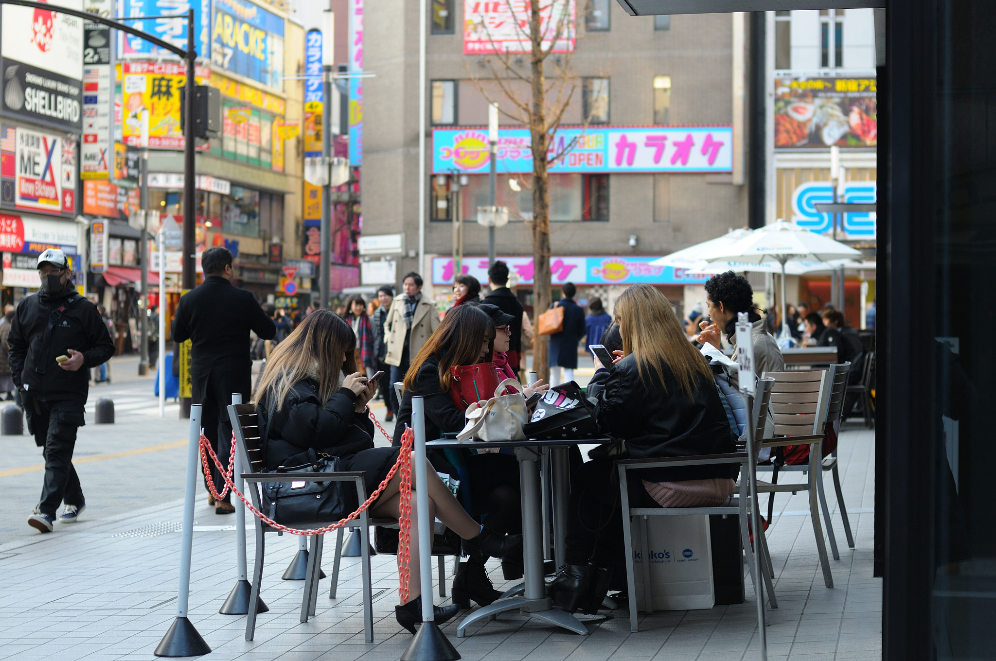
[(428, 471), (425, 465), (425, 404), (421, 397), (411, 398), (411, 426), (415, 432), (414, 483), (418, 516), (414, 522), (418, 534), (418, 569), (421, 574), (422, 625), (401, 655), (401, 661), (455, 661), (460, 654), (435, 623), (432, 602), (432, 520), (429, 519)]

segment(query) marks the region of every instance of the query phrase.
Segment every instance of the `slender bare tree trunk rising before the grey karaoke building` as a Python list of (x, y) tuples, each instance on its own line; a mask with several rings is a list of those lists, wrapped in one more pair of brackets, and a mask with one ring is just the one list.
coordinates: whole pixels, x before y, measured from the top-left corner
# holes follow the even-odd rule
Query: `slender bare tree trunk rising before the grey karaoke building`
[(540, 315), (550, 308), (550, 189), (547, 158), (550, 135), (547, 132), (546, 77), (540, 28), (540, 0), (531, 0), (529, 27), (532, 41), (532, 112), (529, 117), (533, 152), (533, 369), (539, 378), (550, 380), (550, 336), (539, 334)]

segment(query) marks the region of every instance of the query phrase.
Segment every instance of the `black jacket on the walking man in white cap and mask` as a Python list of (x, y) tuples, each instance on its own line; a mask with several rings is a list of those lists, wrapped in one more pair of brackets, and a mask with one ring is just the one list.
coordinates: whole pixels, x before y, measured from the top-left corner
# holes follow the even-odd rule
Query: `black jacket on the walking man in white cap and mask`
[[(50, 321), (55, 324), (45, 344)], [(106, 362), (115, 352), (97, 306), (72, 286), (59, 294), (42, 292), (26, 298), (14, 313), (7, 342), (14, 384), (26, 386), (45, 401), (86, 403), (90, 367)], [(71, 348), (83, 353), (83, 366), (76, 371), (63, 369), (56, 362), (57, 356), (69, 355), (67, 349)]]

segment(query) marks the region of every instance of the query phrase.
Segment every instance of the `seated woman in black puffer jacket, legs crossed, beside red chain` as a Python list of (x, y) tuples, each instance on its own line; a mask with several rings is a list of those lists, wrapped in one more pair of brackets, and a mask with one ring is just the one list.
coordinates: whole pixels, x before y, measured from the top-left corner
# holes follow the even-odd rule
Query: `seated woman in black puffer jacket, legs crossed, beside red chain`
[[(356, 346), (349, 324), (328, 310), (317, 310), (273, 350), (253, 397), (267, 469), (307, 463), (309, 450), (314, 449), (339, 457), (344, 471), (366, 471), (368, 494), (387, 476), (399, 450), (373, 447), (367, 402), (376, 384), (358, 369)], [(381, 492), (370, 509), (373, 517), (399, 516), (399, 482), (395, 475)], [(415, 490), (422, 485), (412, 482), (411, 487)], [(435, 471), (428, 471), (424, 488), (429, 492), (429, 517), (459, 535), (468, 555), (501, 555), (515, 544), (516, 540), (490, 533), (474, 522)], [(413, 520), (415, 502), (412, 498)], [(417, 536), (412, 536), (409, 596), (394, 609), (398, 623), (412, 633), (421, 621), (417, 557)], [(458, 610), (456, 604), (436, 607), (436, 623), (449, 620)]]

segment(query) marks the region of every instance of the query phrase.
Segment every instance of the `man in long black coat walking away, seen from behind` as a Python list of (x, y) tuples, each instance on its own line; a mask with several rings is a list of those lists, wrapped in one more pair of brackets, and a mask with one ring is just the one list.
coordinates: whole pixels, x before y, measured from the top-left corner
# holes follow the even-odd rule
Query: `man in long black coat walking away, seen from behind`
[[(200, 258), (204, 282), (180, 299), (173, 320), (173, 341), (191, 340), (191, 399), (201, 405), (200, 424), (218, 458), (228, 465), (232, 425), (228, 404), (232, 394), (252, 394), (252, 358), (249, 331), (273, 339), (277, 327), (251, 292), (232, 286), (232, 254), (225, 248), (208, 248)], [(224, 488), (221, 474), (211, 465), (214, 487)], [(211, 500), (210, 495), (208, 496)], [(235, 511), (226, 496), (214, 503), (215, 514)]]

